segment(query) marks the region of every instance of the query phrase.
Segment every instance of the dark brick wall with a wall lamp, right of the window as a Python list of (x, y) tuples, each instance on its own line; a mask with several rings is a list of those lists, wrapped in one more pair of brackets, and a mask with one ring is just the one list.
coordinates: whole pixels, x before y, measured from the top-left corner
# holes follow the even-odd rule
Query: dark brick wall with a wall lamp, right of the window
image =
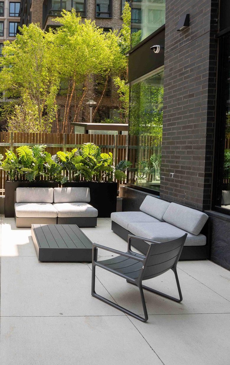
[[(200, 210), (211, 203), (217, 9), (217, 0), (166, 0), (160, 196)], [(186, 13), (190, 27), (176, 31)]]

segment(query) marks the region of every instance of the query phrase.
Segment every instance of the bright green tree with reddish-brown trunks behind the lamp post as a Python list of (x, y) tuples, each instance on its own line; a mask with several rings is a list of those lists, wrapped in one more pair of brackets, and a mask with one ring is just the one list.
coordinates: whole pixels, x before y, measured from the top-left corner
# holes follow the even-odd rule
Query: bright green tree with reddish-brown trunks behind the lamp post
[(93, 80), (92, 75), (103, 74), (108, 80), (110, 70), (115, 67), (117, 46), (113, 33), (104, 34), (102, 28), (91, 20), (85, 19), (82, 22), (74, 9), (71, 12), (63, 11), (62, 18), (56, 21), (62, 26), (57, 29), (54, 37), (55, 64), (61, 81), (66, 80), (68, 83), (62, 123), (62, 132), (65, 132), (71, 104), (75, 105), (75, 121), (81, 111), (88, 85)]

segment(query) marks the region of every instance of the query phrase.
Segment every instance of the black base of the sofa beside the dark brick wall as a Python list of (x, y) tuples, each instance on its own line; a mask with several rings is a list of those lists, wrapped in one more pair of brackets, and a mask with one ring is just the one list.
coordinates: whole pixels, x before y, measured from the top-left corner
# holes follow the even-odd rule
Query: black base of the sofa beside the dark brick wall
[[(121, 238), (128, 242), (128, 235), (132, 234), (125, 228), (121, 227), (119, 224), (112, 220), (112, 231), (116, 233)], [(137, 250), (142, 252), (144, 255), (147, 254), (149, 244), (147, 242), (140, 241), (139, 239), (133, 239), (132, 246)], [(206, 260), (209, 258), (209, 247), (205, 246), (184, 246), (182, 253), (180, 255), (179, 261), (183, 260)]]

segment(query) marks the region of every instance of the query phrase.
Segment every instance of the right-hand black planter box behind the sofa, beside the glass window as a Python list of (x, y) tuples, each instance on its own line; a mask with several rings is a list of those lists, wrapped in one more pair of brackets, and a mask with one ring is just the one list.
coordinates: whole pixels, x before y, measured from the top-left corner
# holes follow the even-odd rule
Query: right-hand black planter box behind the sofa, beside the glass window
[(66, 183), (63, 187), (90, 188), (90, 204), (98, 210), (98, 218), (110, 218), (117, 210), (117, 183), (79, 181)]

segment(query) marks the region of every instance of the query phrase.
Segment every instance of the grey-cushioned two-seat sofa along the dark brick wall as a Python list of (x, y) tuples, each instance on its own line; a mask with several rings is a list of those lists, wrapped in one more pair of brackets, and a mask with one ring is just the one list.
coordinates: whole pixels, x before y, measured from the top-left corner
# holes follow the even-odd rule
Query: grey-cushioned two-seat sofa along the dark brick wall
[[(112, 230), (125, 240), (134, 234), (158, 242), (167, 242), (187, 233), (181, 260), (205, 259), (209, 250), (206, 235), (200, 233), (207, 222), (207, 214), (176, 203), (147, 195), (139, 212), (111, 214)], [(148, 243), (133, 242), (144, 254)]]

